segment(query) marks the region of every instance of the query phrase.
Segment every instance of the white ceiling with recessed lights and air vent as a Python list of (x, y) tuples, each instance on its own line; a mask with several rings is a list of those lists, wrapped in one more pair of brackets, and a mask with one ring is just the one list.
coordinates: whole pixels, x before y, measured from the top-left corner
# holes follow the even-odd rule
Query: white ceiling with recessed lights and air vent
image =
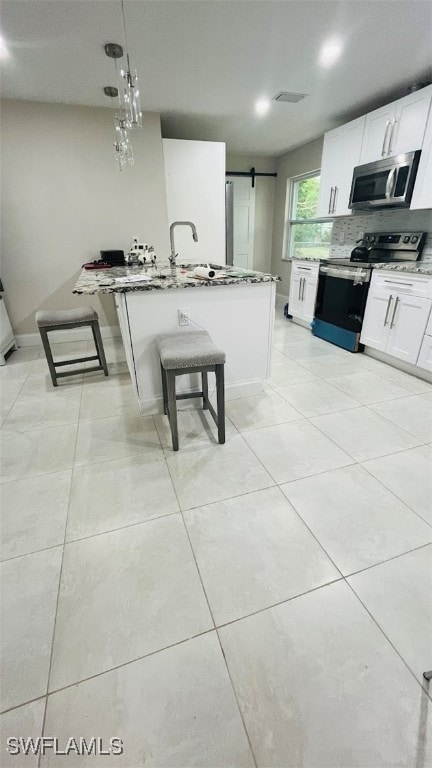
[[(143, 109), (169, 138), (279, 155), (432, 80), (432, 3), (423, 0), (125, 0)], [(120, 0), (2, 0), (8, 98), (108, 106), (106, 42), (124, 44)], [(326, 42), (342, 45), (330, 68)], [(272, 103), (282, 90), (309, 94)], [(108, 102), (108, 103), (107, 103)]]

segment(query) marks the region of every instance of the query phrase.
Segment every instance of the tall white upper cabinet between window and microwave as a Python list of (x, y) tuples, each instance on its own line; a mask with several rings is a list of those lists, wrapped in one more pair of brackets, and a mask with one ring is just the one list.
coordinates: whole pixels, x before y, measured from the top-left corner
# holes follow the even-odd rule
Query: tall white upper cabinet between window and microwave
[(353, 169), (359, 164), (365, 117), (335, 128), (324, 137), (319, 216), (347, 216)]

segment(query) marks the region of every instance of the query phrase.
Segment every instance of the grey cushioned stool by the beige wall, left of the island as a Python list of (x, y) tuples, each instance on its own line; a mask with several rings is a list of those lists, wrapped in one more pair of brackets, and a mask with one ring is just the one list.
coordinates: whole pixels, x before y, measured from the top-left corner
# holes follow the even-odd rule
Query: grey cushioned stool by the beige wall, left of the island
[[(78, 373), (90, 373), (91, 371), (103, 371), (108, 376), (108, 368), (105, 359), (105, 352), (102, 344), (102, 337), (99, 329), (99, 320), (97, 312), (91, 307), (77, 307), (77, 309), (60, 309), (54, 312), (36, 312), (36, 325), (39, 328), (42, 344), (51, 374), (51, 380), (54, 387), (58, 386), (57, 379), (64, 376), (76, 376)], [(74, 360), (62, 360), (54, 362), (51, 347), (48, 339), (48, 333), (51, 331), (64, 331), (66, 328), (80, 328), (89, 325), (92, 329), (93, 339), (96, 347), (96, 355), (90, 357), (78, 357)], [(91, 368), (78, 368), (74, 371), (62, 371), (58, 373), (56, 368), (72, 363), (87, 363), (90, 360), (98, 360), (99, 365)]]

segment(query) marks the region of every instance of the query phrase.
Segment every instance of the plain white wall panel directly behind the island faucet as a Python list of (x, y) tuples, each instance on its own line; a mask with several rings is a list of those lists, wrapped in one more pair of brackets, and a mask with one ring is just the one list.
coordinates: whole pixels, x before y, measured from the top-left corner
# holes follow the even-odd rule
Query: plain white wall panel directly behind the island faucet
[(176, 227), (178, 262), (225, 264), (225, 144), (182, 139), (162, 143), (169, 224), (192, 221), (198, 233), (194, 242), (190, 227)]

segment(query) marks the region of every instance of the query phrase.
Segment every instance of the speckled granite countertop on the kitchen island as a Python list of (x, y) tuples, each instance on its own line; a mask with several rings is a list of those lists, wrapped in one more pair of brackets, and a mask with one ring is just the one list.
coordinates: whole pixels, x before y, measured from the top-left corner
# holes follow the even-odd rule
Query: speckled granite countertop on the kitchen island
[[(177, 264), (176, 274), (173, 275), (169, 265), (146, 265), (111, 267), (110, 269), (83, 269), (73, 293), (126, 293), (129, 291), (154, 291), (176, 288), (202, 288), (218, 285), (241, 285), (243, 283), (269, 283), (280, 280), (280, 277), (239, 269), (237, 267), (210, 264), (212, 269), (222, 271), (224, 277), (202, 280), (193, 277), (194, 267), (207, 267), (207, 264)], [(121, 282), (121, 278), (137, 278), (131, 282)], [(117, 280), (120, 280), (117, 282)], [(139, 278), (142, 278), (140, 280)], [(150, 278), (150, 279), (148, 279)]]

